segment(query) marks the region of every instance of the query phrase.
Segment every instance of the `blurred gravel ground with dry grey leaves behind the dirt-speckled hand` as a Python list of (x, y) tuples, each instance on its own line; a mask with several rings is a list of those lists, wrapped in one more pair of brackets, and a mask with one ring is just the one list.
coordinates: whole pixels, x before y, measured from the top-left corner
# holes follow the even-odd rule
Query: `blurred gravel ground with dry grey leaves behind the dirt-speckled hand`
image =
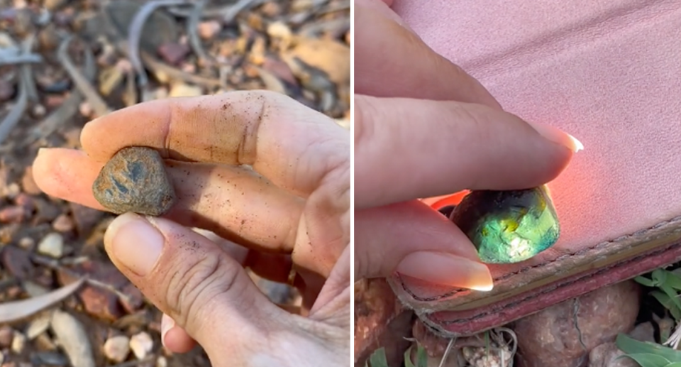
[(209, 366), (162, 347), (160, 312), (104, 253), (113, 215), (40, 192), (33, 158), (109, 111), (239, 89), (349, 126), (349, 28), (349, 0), (0, 0), (0, 366)]

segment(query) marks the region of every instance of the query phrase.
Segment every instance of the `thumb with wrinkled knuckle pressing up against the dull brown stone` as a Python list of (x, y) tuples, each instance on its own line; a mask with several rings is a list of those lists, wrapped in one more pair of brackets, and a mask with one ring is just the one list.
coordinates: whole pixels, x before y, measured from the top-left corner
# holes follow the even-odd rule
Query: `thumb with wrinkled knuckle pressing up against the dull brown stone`
[(216, 243), (175, 222), (123, 214), (104, 245), (116, 267), (209, 353), (243, 353), (240, 343), (221, 342), (229, 329), (243, 341), (265, 340), (272, 319), (285, 313)]

